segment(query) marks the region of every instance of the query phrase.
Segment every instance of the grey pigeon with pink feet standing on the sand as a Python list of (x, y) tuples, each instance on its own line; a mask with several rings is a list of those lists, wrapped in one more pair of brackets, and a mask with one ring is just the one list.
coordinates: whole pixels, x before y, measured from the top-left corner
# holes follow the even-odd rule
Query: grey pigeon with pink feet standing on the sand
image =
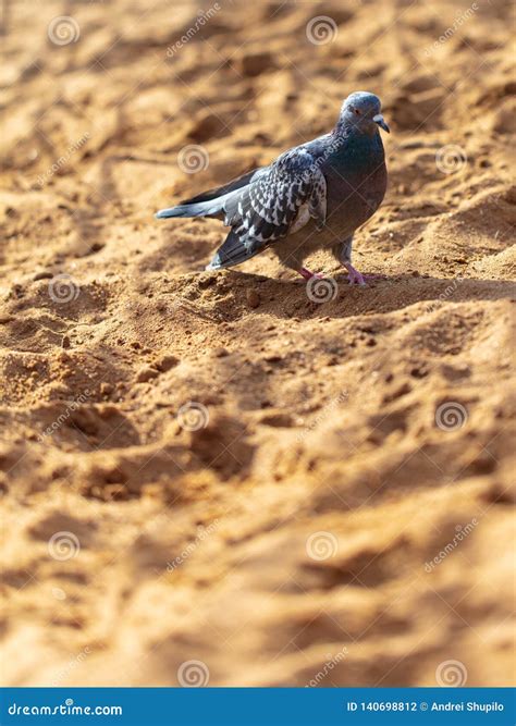
[(241, 264), (265, 249), (305, 280), (304, 260), (328, 248), (347, 270), (349, 284), (367, 279), (352, 264), (355, 231), (379, 208), (386, 188), (380, 128), (390, 133), (378, 96), (356, 91), (341, 108), (329, 134), (281, 153), (268, 167), (254, 169), (176, 207), (157, 219), (210, 217), (230, 233), (207, 270)]

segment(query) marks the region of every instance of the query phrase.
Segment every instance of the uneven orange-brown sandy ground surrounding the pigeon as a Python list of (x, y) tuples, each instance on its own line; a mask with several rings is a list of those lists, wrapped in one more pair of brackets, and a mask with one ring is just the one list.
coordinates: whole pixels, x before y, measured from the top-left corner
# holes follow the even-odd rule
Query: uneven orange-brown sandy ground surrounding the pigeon
[[(509, 3), (4, 14), (2, 682), (511, 684)], [(321, 254), (314, 303), (153, 220), (357, 89), (392, 134), (355, 264), (386, 280)]]

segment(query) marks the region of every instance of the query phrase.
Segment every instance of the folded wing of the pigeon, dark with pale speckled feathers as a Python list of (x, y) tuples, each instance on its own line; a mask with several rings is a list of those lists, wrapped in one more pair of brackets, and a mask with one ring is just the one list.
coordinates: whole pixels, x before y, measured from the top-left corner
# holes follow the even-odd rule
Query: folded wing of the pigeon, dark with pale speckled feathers
[(310, 218), (320, 229), (325, 221), (327, 184), (317, 157), (297, 147), (231, 194), (224, 201), (226, 241), (209, 266), (232, 267), (254, 257)]

